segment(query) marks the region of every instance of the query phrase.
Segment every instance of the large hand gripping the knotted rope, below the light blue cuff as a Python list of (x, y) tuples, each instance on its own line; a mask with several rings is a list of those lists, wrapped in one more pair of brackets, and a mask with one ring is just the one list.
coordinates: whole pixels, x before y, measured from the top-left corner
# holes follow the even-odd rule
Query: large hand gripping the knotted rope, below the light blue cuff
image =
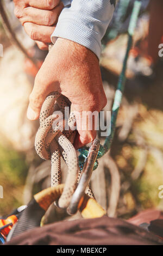
[[(96, 137), (95, 120), (92, 130), (79, 129), (83, 111), (101, 111), (106, 105), (101, 71), (95, 53), (76, 42), (58, 38), (45, 62), (36, 75), (34, 88), (29, 97), (27, 117), (39, 118), (40, 110), (46, 96), (59, 92), (72, 102), (72, 109), (77, 120), (78, 137), (75, 147), (80, 148)], [(79, 114), (78, 114), (79, 113)], [(97, 115), (96, 115), (97, 119)]]

